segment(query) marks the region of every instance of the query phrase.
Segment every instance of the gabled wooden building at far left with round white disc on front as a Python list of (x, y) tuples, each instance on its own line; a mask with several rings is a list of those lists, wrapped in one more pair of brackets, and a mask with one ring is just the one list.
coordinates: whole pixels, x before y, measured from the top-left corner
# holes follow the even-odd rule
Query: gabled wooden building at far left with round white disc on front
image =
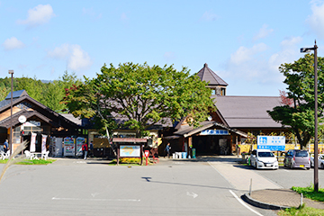
[[(34, 100), (25, 90), (13, 93), (13, 116), (11, 118), (11, 93), (0, 102), (0, 143), (10, 137), (13, 124), (13, 146), (23, 140), (31, 140), (31, 132), (36, 133), (36, 151), (40, 152), (41, 135), (48, 137), (81, 136), (85, 130), (81, 125), (68, 120), (44, 104)], [(49, 143), (49, 139), (47, 139)], [(29, 147), (27, 147), (29, 148)]]

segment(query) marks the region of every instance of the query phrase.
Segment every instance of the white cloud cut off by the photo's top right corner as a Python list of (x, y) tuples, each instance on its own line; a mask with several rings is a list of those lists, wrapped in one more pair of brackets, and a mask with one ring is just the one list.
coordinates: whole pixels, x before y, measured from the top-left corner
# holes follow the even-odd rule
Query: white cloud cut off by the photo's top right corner
[(315, 31), (321, 39), (324, 39), (324, 3), (313, 1), (311, 3), (312, 14), (306, 20), (311, 27), (312, 31)]

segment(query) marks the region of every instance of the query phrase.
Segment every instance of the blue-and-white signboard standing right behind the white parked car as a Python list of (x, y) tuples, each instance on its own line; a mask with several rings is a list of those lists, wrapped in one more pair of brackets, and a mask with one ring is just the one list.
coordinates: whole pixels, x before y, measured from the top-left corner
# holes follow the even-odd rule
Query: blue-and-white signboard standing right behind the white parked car
[(257, 136), (257, 148), (269, 150), (284, 150), (284, 136)]

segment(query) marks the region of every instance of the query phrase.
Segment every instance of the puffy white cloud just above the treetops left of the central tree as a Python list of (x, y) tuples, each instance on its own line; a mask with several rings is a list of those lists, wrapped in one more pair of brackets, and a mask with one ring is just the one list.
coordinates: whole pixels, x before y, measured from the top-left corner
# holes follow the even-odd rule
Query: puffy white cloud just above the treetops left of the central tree
[(93, 62), (87, 52), (77, 44), (63, 44), (48, 52), (50, 58), (64, 59), (67, 61), (67, 68), (72, 71), (81, 71), (90, 67)]

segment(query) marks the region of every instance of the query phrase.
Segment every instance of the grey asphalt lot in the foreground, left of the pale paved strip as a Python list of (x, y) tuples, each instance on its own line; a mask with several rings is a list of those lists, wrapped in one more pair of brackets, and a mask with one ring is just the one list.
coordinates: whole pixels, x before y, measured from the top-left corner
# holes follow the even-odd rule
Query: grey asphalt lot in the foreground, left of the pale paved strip
[(204, 159), (107, 162), (58, 158), (48, 166), (11, 166), (0, 184), (0, 215), (275, 215), (242, 203)]

